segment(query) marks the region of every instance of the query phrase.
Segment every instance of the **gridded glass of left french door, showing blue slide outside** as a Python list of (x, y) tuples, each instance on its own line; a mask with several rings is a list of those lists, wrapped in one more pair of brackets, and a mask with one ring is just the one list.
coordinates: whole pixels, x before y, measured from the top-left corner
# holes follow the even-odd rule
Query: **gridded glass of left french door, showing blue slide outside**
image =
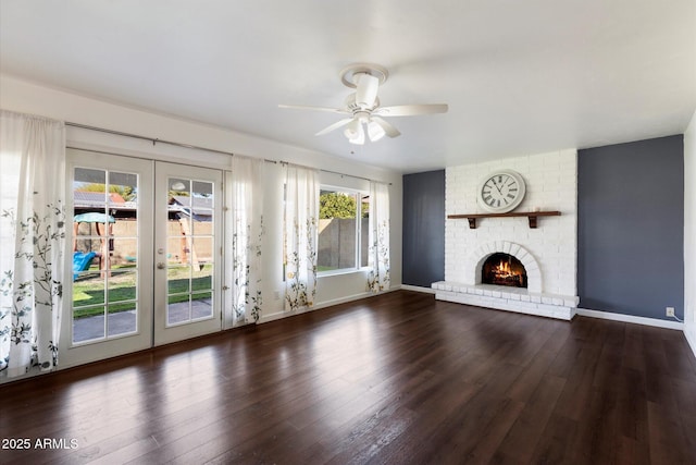
[(73, 342), (137, 332), (138, 175), (75, 168)]

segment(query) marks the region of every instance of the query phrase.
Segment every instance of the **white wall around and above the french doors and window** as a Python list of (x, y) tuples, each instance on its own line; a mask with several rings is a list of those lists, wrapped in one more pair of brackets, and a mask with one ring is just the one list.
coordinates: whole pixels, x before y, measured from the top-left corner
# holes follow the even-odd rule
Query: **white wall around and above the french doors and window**
[[(279, 144), (224, 127), (201, 124), (157, 114), (142, 109), (125, 107), (114, 102), (98, 100), (29, 83), (14, 76), (0, 74), (0, 106), (4, 110), (53, 118), (72, 123), (102, 127), (111, 131), (142, 135), (145, 137), (172, 140), (215, 150), (231, 151), (249, 157), (289, 161), (298, 164), (337, 171), (362, 178), (390, 183), (390, 264), (391, 286), (401, 284), (401, 174), (376, 167), (356, 163), (353, 160), (327, 156), (302, 148)], [(152, 145), (122, 136), (69, 127), (69, 145), (105, 150), (123, 155), (156, 160), (184, 162), (189, 164), (229, 169), (231, 158), (225, 155), (173, 147), (165, 144)], [(266, 163), (264, 220), (266, 227), (264, 253), (264, 317), (274, 319), (287, 316), (282, 311), (282, 205), (283, 170), (279, 164)], [(335, 176), (322, 172), (322, 182), (334, 185), (363, 188), (365, 181), (349, 176)], [(357, 186), (358, 185), (358, 186)], [(278, 200), (279, 199), (279, 200)], [(356, 272), (321, 278), (318, 283), (315, 308), (368, 295), (364, 273)], [(275, 299), (275, 292), (281, 292)]]

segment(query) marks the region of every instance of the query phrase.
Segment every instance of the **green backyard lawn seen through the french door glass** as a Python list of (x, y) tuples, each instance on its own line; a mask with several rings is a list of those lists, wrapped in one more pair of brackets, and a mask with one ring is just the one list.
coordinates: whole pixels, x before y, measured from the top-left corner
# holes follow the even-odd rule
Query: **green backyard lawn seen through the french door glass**
[[(95, 267), (90, 269), (94, 274), (80, 277), (73, 282), (73, 311), (74, 318), (91, 317), (103, 315), (104, 304), (104, 279), (100, 277), (99, 270)], [(194, 271), (189, 279), (187, 269), (172, 268), (169, 271), (169, 303), (187, 302), (190, 291), (198, 292), (194, 299), (210, 298), (212, 265), (206, 265), (202, 270)], [(124, 266), (113, 268), (109, 277), (109, 313), (127, 311), (135, 309), (136, 299), (136, 272), (135, 266)], [(206, 292), (208, 291), (208, 292)]]

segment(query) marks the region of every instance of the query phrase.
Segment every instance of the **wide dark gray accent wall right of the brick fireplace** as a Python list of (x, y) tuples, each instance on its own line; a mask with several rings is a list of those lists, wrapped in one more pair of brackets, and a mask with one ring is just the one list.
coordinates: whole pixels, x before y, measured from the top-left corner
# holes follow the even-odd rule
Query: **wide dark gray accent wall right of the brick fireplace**
[(682, 135), (579, 150), (580, 307), (684, 315)]

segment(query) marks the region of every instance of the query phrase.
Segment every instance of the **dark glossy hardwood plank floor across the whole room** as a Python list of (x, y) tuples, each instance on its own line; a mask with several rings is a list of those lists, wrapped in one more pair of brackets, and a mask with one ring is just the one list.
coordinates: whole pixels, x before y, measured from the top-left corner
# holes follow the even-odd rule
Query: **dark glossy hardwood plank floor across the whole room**
[(0, 402), (3, 448), (30, 440), (3, 464), (696, 464), (680, 331), (407, 291), (0, 386)]

